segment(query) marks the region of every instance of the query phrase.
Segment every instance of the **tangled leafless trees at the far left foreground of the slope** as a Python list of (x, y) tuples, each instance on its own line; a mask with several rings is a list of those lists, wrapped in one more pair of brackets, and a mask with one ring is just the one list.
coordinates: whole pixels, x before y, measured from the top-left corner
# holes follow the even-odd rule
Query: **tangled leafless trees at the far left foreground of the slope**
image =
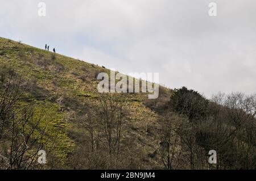
[(46, 128), (40, 126), (42, 115), (35, 119), (32, 106), (19, 105), (26, 90), (22, 78), (2, 72), (0, 81), (0, 157), (1, 169), (41, 169), (39, 150), (48, 141)]

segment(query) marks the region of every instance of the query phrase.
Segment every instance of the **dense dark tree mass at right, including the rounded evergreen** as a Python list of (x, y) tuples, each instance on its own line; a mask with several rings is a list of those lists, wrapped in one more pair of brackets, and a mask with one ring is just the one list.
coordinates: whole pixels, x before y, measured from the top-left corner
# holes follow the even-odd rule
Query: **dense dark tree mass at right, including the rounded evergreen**
[[(256, 168), (256, 95), (219, 93), (207, 100), (182, 87), (168, 106), (159, 131), (166, 169)], [(217, 164), (209, 164), (209, 150), (216, 150)]]

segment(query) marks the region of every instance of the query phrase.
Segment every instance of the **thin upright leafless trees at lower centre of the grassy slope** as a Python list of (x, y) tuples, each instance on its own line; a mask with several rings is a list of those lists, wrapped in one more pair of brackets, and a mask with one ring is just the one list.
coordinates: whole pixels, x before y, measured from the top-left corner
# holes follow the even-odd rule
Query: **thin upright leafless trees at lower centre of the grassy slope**
[[(96, 102), (84, 104), (77, 120), (86, 129), (88, 134), (85, 136), (90, 142), (77, 147), (72, 155), (74, 167), (82, 165), (86, 169), (113, 169), (121, 165), (123, 159), (119, 159), (119, 155), (126, 115), (125, 103), (122, 96), (101, 95)], [(82, 150), (88, 154), (84, 155)]]

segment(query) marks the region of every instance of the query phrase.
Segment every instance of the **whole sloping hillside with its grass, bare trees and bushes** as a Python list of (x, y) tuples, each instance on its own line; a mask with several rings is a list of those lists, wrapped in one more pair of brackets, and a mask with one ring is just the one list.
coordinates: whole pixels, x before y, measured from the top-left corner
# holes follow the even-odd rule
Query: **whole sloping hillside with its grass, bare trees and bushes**
[[(187, 87), (162, 86), (158, 99), (100, 94), (101, 72), (110, 74), (0, 38), (0, 169), (37, 163), (29, 156), (42, 143), (43, 169), (256, 168), (256, 95), (236, 92), (208, 100)], [(209, 151), (216, 151), (217, 162), (209, 163)]]

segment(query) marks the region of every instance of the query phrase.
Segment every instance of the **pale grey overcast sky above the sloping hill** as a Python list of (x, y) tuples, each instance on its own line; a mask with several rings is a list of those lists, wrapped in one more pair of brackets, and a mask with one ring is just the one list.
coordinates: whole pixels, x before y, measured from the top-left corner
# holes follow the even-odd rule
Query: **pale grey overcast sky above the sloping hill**
[(2, 37), (207, 97), (256, 92), (255, 18), (255, 0), (0, 0)]

